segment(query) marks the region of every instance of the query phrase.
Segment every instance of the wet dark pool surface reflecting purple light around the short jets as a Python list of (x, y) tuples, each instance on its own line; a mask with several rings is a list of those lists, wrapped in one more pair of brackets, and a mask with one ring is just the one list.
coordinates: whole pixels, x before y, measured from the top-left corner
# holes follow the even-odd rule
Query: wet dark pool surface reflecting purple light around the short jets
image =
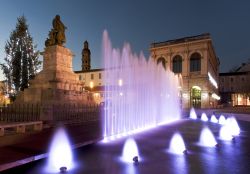
[[(138, 165), (121, 161), (126, 138), (96, 143), (74, 150), (75, 167), (67, 173), (81, 174), (235, 174), (250, 171), (250, 122), (239, 121), (241, 134), (235, 141), (218, 139), (220, 125), (199, 120), (181, 120), (132, 135), (139, 148)], [(208, 126), (220, 144), (219, 148), (198, 146), (201, 129)], [(188, 149), (187, 155), (167, 152), (170, 139), (179, 132)], [(47, 160), (39, 160), (5, 173), (46, 173)]]

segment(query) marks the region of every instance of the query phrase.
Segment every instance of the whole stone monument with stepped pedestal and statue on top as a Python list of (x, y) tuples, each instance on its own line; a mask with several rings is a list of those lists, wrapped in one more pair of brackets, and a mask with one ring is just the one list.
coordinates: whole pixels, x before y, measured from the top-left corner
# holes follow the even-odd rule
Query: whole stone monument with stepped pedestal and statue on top
[(64, 44), (66, 27), (57, 15), (53, 28), (45, 41), (43, 70), (30, 81), (30, 85), (17, 96), (15, 103), (89, 104), (91, 93), (84, 90), (84, 83), (72, 70), (73, 53)]

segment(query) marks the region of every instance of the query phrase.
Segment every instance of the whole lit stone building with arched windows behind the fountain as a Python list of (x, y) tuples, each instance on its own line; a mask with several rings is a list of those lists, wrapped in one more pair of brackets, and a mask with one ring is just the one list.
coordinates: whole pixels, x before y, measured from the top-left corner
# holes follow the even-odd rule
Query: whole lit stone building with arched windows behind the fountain
[(180, 79), (182, 108), (215, 108), (218, 94), (219, 59), (210, 34), (152, 43), (151, 58)]

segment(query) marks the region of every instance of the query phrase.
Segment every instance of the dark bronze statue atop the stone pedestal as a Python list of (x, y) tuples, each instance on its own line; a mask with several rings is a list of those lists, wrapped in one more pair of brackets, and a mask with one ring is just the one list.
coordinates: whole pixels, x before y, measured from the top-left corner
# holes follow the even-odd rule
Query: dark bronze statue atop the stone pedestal
[(60, 20), (60, 16), (56, 15), (52, 22), (53, 28), (49, 32), (49, 38), (45, 41), (45, 46), (60, 45), (66, 42), (65, 30), (67, 27)]

